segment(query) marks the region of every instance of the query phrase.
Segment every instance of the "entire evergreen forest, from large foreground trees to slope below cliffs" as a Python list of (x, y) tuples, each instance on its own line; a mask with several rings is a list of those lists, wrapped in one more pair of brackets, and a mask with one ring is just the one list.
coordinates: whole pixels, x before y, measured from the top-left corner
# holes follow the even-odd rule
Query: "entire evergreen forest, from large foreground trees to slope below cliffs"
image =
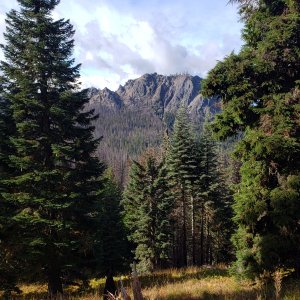
[[(153, 282), (194, 267), (249, 282), (281, 274), (274, 299), (283, 277), (299, 282), (298, 0), (231, 0), (244, 44), (199, 90), (221, 112), (195, 123), (182, 103), (166, 126), (150, 113), (91, 109), (74, 28), (53, 18), (60, 1), (17, 2), (0, 62), (0, 298), (37, 283), (47, 286), (40, 299), (63, 299), (69, 285), (82, 295), (133, 266)], [(97, 136), (108, 122), (132, 157)]]

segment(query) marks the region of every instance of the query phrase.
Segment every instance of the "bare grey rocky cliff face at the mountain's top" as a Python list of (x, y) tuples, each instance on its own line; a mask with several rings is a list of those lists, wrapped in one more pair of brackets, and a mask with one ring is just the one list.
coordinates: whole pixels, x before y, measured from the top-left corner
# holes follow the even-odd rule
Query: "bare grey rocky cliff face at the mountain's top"
[[(145, 74), (129, 80), (115, 92), (90, 89), (91, 104), (118, 110), (145, 109), (153, 111), (161, 119), (174, 115), (180, 105), (187, 105), (193, 118), (201, 119), (206, 111), (212, 114), (219, 110), (215, 99), (204, 99), (201, 94), (201, 78), (191, 75), (163, 76)], [(201, 120), (200, 120), (201, 121)]]

